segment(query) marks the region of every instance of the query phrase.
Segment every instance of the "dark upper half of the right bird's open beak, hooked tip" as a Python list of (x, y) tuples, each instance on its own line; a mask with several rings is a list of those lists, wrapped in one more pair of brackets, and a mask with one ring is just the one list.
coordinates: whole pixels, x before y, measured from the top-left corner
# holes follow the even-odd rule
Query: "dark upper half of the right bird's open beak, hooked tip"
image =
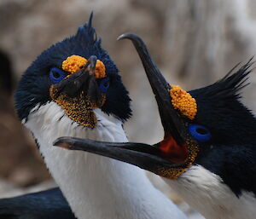
[(180, 118), (180, 115), (172, 106), (170, 85), (166, 82), (166, 79), (161, 74), (159, 68), (155, 65), (151, 55), (149, 55), (143, 39), (137, 36), (137, 34), (125, 33), (119, 36), (118, 40), (125, 38), (131, 40), (143, 62), (148, 81), (154, 92), (155, 100), (157, 101), (161, 123), (165, 130), (165, 138), (172, 135), (178, 144), (182, 144), (186, 137), (186, 133), (184, 133), (183, 118)]

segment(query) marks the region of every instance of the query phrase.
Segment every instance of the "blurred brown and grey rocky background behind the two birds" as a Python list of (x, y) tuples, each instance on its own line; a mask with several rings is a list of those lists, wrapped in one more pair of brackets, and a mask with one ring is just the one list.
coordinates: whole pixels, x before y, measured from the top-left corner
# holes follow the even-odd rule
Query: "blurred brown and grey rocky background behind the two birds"
[[(102, 47), (131, 93), (133, 118), (125, 124), (131, 141), (153, 143), (163, 131), (142, 64), (131, 42), (116, 41), (120, 34), (143, 37), (169, 82), (184, 89), (211, 84), (256, 55), (254, 0), (1, 0), (0, 197), (54, 185), (32, 136), (15, 116), (13, 92), (37, 55), (73, 35), (91, 10)], [(255, 73), (249, 80), (242, 101), (255, 112)], [(150, 177), (190, 218), (200, 218), (165, 184)]]

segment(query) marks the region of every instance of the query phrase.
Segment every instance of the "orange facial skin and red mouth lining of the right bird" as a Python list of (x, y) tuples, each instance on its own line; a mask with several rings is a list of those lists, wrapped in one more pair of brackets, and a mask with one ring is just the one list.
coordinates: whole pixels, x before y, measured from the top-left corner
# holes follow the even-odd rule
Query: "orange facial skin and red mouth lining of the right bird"
[[(172, 85), (170, 89), (172, 97), (172, 106), (177, 109), (183, 116), (193, 120), (197, 113), (195, 98), (178, 85)], [(157, 170), (156, 174), (175, 180), (178, 176), (189, 169), (189, 166), (195, 163), (195, 158), (199, 153), (197, 141), (192, 139), (188, 134), (185, 137), (183, 145), (177, 145), (172, 135), (167, 136), (160, 142), (160, 150), (164, 157), (171, 160), (173, 164), (182, 164), (180, 167), (169, 169), (162, 168)]]

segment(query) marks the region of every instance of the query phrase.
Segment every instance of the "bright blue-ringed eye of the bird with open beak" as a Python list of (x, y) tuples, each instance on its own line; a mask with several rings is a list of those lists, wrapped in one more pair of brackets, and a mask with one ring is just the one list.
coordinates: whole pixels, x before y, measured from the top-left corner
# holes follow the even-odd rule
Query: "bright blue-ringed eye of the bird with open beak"
[(189, 133), (195, 140), (201, 142), (209, 141), (212, 137), (211, 132), (200, 124), (189, 124)]

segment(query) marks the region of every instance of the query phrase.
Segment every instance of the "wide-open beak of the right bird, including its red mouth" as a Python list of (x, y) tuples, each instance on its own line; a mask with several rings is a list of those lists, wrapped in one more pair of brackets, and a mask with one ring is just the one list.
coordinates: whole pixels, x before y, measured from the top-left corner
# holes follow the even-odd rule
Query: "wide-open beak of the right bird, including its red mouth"
[(133, 33), (125, 33), (118, 39), (124, 38), (131, 40), (143, 62), (159, 107), (161, 123), (165, 130), (164, 140), (152, 146), (136, 142), (116, 143), (61, 137), (54, 144), (115, 158), (160, 176), (176, 179), (194, 162), (198, 151), (197, 142), (188, 134), (187, 120), (172, 106), (172, 88), (154, 64), (142, 38)]

